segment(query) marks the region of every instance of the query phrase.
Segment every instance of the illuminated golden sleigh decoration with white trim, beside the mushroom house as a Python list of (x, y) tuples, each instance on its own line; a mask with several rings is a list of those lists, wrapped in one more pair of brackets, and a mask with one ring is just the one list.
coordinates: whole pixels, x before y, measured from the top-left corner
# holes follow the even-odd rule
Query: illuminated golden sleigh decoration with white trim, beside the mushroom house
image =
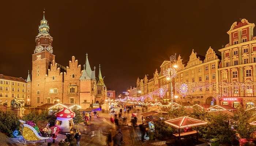
[[(19, 131), (15, 130), (13, 132), (14, 140), (17, 143), (23, 143), (24, 145), (33, 145), (36, 143), (48, 143), (52, 142), (51, 137), (41, 137), (37, 130), (29, 124), (25, 124), (26, 122), (23, 120), (20, 121)], [(19, 132), (21, 135), (19, 135)]]

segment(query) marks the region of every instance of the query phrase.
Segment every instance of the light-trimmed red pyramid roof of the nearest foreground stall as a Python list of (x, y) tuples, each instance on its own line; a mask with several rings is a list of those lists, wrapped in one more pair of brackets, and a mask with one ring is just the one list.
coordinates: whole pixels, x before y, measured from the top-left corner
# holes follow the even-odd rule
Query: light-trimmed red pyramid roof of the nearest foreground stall
[(165, 123), (167, 123), (173, 127), (176, 127), (176, 128), (193, 127), (193, 126), (207, 124), (207, 122), (205, 122), (205, 121), (190, 118), (188, 116), (182, 116), (180, 118), (166, 120)]

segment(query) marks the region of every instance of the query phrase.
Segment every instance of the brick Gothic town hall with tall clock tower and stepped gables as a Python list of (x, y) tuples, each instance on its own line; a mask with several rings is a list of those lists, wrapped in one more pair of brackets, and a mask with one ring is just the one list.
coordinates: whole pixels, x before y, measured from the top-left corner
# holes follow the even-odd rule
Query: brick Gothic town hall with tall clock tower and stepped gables
[[(38, 107), (46, 103), (77, 104), (86, 109), (92, 103), (105, 100), (106, 86), (99, 65), (98, 77), (91, 70), (86, 54), (83, 67), (72, 56), (69, 66), (64, 67), (55, 61), (53, 38), (45, 15), (40, 21), (35, 37), (35, 50), (32, 54), (32, 72), (27, 77), (27, 104)], [(82, 69), (82, 71), (81, 71)]]

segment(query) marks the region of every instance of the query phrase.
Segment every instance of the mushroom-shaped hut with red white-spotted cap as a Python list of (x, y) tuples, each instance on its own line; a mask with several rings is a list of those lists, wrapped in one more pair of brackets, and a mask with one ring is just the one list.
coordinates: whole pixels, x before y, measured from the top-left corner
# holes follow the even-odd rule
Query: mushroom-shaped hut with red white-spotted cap
[(74, 130), (75, 124), (73, 118), (75, 117), (75, 112), (71, 111), (69, 108), (61, 108), (56, 112), (57, 117), (55, 121), (55, 126), (60, 128), (60, 132), (69, 133), (70, 130)]

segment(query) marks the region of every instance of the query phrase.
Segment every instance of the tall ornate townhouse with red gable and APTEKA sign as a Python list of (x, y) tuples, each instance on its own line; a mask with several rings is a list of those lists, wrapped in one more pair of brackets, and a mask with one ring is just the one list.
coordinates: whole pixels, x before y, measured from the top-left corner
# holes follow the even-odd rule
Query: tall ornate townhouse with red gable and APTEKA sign
[[(241, 104), (250, 108), (256, 104), (256, 37), (253, 37), (254, 23), (242, 19), (234, 22), (229, 34), (229, 43), (222, 49), (219, 66), (219, 82), (227, 82), (229, 86), (221, 86), (220, 104), (236, 107)], [(242, 85), (241, 83), (245, 83)]]

